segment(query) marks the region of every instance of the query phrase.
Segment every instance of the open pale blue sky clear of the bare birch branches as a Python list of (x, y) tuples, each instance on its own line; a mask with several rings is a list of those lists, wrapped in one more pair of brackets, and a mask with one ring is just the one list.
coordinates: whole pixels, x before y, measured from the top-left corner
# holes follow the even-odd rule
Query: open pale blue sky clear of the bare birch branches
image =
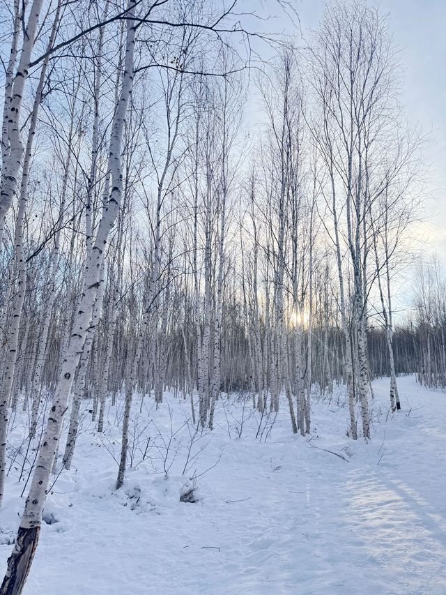
[[(419, 231), (426, 250), (436, 250), (446, 262), (446, 0), (380, 0), (376, 4), (390, 15), (390, 31), (403, 69), (401, 102), (408, 120), (431, 133), (424, 158), (430, 165), (432, 198), (426, 200), (429, 221)], [(295, 0), (293, 5), (303, 36), (309, 36), (323, 15), (324, 1)], [(257, 27), (295, 33), (277, 0), (245, 0), (245, 7), (273, 17), (268, 23), (258, 22)]]

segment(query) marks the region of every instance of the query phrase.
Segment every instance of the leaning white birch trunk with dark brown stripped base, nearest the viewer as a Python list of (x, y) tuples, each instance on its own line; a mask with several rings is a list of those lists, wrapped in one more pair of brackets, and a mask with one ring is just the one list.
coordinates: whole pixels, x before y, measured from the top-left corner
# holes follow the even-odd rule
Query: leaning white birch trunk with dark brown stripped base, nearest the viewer
[(133, 54), (134, 54), (134, 8), (136, 0), (130, 0), (127, 16), (127, 40), (125, 46), (125, 68), (121, 93), (116, 106), (113, 119), (113, 134), (110, 144), (109, 169), (112, 172), (112, 193), (107, 208), (102, 213), (98, 233), (92, 250), (92, 257), (86, 263), (84, 288), (79, 310), (75, 317), (75, 324), (68, 345), (68, 352), (64, 358), (61, 375), (54, 393), (49, 419), (40, 446), (36, 468), (31, 481), (29, 495), (20, 527), (17, 534), (16, 545), (8, 559), (8, 568), (1, 585), (1, 595), (20, 595), (26, 577), (33, 562), (36, 551), (40, 523), (42, 522), (43, 507), (47, 496), (49, 477), (54, 464), (56, 446), (62, 427), (63, 416), (68, 408), (68, 398), (72, 388), (82, 347), (86, 338), (86, 330), (93, 314), (98, 286), (100, 285), (100, 269), (105, 246), (110, 229), (114, 225), (118, 214), (123, 182), (121, 174), (121, 145), (123, 126), (127, 112), (128, 100), (133, 82)]

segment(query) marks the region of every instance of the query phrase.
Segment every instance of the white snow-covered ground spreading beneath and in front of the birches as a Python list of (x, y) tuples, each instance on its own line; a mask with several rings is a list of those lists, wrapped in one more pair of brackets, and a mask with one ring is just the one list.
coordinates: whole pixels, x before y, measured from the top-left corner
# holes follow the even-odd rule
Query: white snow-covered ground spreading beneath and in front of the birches
[[(369, 444), (346, 437), (343, 396), (313, 403), (310, 439), (292, 435), (285, 407), (258, 431), (249, 403), (222, 399), (214, 432), (194, 435), (187, 402), (139, 415), (135, 401), (137, 469), (118, 492), (122, 408), (109, 409), (105, 437), (86, 417), (24, 593), (445, 595), (446, 396), (400, 378), (392, 415), (388, 384), (374, 383)], [(0, 571), (23, 506), (21, 456), (0, 513)], [(180, 502), (193, 474), (198, 502)]]

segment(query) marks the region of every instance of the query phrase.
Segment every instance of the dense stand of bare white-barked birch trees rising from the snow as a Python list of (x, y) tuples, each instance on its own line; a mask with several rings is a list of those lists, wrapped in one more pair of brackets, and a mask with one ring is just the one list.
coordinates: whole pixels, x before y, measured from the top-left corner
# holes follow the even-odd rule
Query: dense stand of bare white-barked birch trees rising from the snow
[(98, 433), (123, 403), (118, 489), (132, 412), (166, 393), (197, 428), (238, 393), (305, 436), (345, 386), (354, 441), (374, 378), (391, 411), (399, 375), (446, 387), (445, 275), (413, 240), (426, 138), (387, 17), (330, 3), (304, 43), (292, 3), (268, 8), (295, 39), (248, 8), (1, 5), (0, 500), (17, 415), (36, 453), (2, 594), (22, 592), (86, 400)]

